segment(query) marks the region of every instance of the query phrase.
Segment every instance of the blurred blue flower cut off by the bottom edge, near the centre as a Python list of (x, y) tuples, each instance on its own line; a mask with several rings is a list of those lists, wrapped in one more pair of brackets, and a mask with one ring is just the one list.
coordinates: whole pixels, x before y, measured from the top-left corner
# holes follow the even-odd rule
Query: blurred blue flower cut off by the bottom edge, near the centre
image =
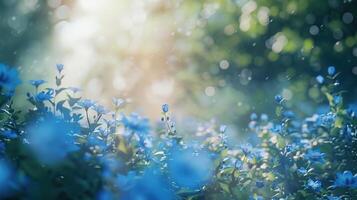
[(122, 200), (173, 200), (176, 199), (162, 176), (152, 169), (135, 181), (132, 188), (122, 191)]

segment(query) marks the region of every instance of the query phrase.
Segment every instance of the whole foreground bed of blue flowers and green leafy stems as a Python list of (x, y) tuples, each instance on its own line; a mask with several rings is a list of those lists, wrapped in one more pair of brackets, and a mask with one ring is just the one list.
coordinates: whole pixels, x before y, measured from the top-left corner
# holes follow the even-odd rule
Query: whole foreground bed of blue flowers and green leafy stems
[[(327, 113), (302, 118), (275, 97), (276, 117), (253, 113), (258, 142), (232, 144), (229, 127), (208, 123), (190, 139), (167, 104), (156, 129), (123, 99), (108, 110), (62, 86), (32, 80), (28, 111), (12, 107), (20, 83), (0, 65), (0, 197), (30, 199), (353, 199), (357, 196), (357, 120), (344, 107), (338, 74), (316, 83)], [(273, 102), (272, 102), (273, 103)]]

